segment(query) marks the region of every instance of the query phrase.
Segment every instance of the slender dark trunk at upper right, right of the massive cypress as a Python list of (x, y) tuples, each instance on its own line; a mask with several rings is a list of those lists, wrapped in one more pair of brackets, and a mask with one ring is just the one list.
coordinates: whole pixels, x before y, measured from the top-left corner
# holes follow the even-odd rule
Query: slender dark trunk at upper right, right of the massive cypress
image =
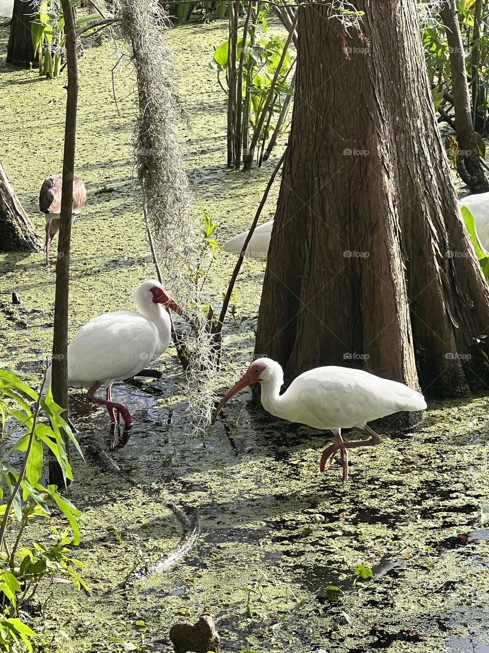
[[(456, 157), (457, 172), (469, 188), (487, 191), (489, 189), (489, 182), (484, 170), (482, 170), (479, 149), (477, 147), (479, 138), (473, 127), (466, 73), (466, 56), (460, 25), (458, 24), (455, 0), (443, 0), (440, 8), (440, 16), (445, 27), (447, 43), (450, 48), (455, 131), (458, 142)], [(475, 93), (477, 94), (477, 86), (475, 86)]]

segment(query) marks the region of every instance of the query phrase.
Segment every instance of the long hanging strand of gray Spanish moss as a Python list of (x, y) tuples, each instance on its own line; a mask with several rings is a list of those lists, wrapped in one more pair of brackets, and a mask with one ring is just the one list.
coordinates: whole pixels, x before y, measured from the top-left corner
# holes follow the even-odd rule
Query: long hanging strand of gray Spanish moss
[[(145, 221), (162, 280), (182, 306), (198, 312), (201, 301), (191, 273), (200, 267), (200, 247), (196, 244), (188, 179), (175, 133), (181, 110), (171, 83), (165, 42), (170, 23), (157, 0), (117, 0), (115, 15), (121, 35), (130, 45), (136, 71), (134, 156)], [(194, 423), (201, 428), (211, 417), (210, 381), (215, 366), (209, 355), (211, 336), (204, 328), (203, 315), (196, 322), (201, 326), (183, 335), (190, 359), (185, 393)]]

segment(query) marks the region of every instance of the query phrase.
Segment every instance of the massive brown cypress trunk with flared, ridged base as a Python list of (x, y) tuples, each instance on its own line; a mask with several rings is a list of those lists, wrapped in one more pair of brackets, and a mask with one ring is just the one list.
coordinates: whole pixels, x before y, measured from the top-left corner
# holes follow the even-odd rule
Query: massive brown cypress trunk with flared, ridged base
[(288, 377), (352, 364), (414, 385), (414, 342), (422, 388), (460, 396), (486, 374), (474, 342), (488, 332), (489, 292), (437, 131), (415, 2), (356, 6), (363, 22), (348, 31), (327, 6), (299, 7), (256, 353)]

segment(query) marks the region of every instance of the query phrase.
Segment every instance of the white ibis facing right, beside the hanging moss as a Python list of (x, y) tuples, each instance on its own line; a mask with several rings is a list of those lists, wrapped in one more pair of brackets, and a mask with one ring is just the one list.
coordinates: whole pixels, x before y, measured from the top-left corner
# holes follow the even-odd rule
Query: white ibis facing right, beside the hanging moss
[[(89, 388), (89, 402), (106, 406), (112, 422), (119, 415), (126, 425), (132, 424), (128, 408), (112, 401), (114, 381), (124, 381), (147, 367), (166, 350), (171, 338), (170, 315), (166, 308), (184, 315), (168, 296), (163, 285), (143, 281), (134, 292), (138, 313), (117, 311), (98, 315), (80, 328), (68, 345), (68, 386)], [(44, 387), (51, 383), (51, 370), (46, 372)], [(100, 386), (106, 388), (106, 399), (95, 396)]]

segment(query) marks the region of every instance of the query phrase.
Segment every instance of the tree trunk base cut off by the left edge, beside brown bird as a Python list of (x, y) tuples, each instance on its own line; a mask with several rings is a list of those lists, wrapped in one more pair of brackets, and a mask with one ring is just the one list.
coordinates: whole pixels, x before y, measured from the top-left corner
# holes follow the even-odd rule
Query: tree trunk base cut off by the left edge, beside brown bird
[(0, 163), (0, 251), (37, 251), (40, 240)]

